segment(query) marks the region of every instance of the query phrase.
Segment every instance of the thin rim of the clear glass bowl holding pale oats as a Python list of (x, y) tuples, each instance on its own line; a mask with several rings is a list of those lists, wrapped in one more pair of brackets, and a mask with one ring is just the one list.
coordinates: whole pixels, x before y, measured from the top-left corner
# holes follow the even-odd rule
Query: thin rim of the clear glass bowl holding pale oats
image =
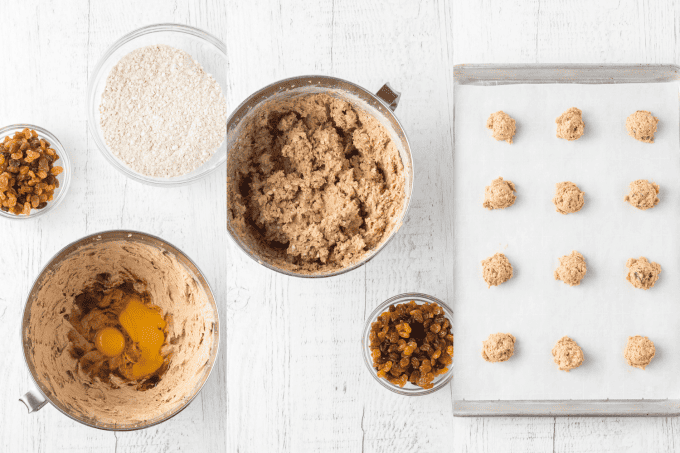
[[(89, 79), (87, 81), (87, 102), (85, 103), (85, 117), (87, 118), (87, 129), (90, 132), (90, 135), (92, 135), (92, 138), (94, 139), (95, 144), (97, 145), (97, 149), (99, 152), (104, 156), (104, 159), (117, 171), (125, 175), (125, 177), (130, 178), (134, 181), (140, 182), (142, 184), (146, 184), (149, 186), (156, 186), (156, 187), (178, 187), (178, 186), (184, 186), (184, 185), (189, 185), (193, 184), (195, 182), (198, 182), (202, 180), (203, 178), (207, 177), (208, 175), (211, 175), (215, 173), (217, 170), (222, 168), (222, 165), (226, 163), (226, 154), (224, 156), (224, 161), (220, 161), (215, 165), (212, 169), (206, 170), (202, 173), (199, 173), (197, 175), (192, 176), (191, 178), (188, 179), (183, 179), (183, 180), (177, 180), (175, 178), (154, 178), (151, 179), (152, 177), (150, 176), (145, 176), (142, 175), (141, 173), (138, 173), (125, 165), (121, 164), (116, 160), (116, 158), (111, 154), (111, 152), (108, 149), (108, 146), (106, 143), (104, 143), (104, 140), (102, 137), (100, 137), (99, 132), (97, 131), (97, 126), (94, 124), (95, 120), (95, 111), (98, 106), (95, 105), (95, 81), (99, 80), (101, 77), (101, 71), (102, 68), (104, 67), (104, 64), (106, 61), (123, 45), (127, 44), (128, 42), (139, 38), (141, 36), (151, 34), (151, 33), (157, 33), (157, 32), (173, 32), (173, 33), (184, 33), (187, 35), (191, 35), (195, 38), (202, 39), (203, 41), (212, 44), (220, 54), (222, 54), (222, 57), (224, 58), (224, 61), (227, 61), (227, 46), (224, 44), (222, 41), (220, 41), (217, 37), (214, 35), (208, 33), (205, 30), (202, 30), (200, 28), (192, 27), (189, 25), (185, 24), (177, 24), (177, 23), (160, 23), (160, 24), (152, 24), (152, 25), (147, 25), (142, 28), (138, 28), (136, 30), (131, 31), (130, 33), (124, 35), (120, 39), (118, 39), (116, 42), (114, 42), (109, 48), (104, 52), (104, 54), (99, 58), (97, 61), (97, 65), (94, 67), (94, 70), (92, 73), (89, 75)], [(192, 56), (193, 58), (193, 56)], [(222, 93), (223, 96), (225, 96), (225, 93)], [(92, 115), (90, 115), (92, 113)], [(225, 141), (226, 141), (226, 128), (225, 128)], [(203, 163), (205, 165), (207, 162)], [(198, 167), (201, 168), (201, 167)]]

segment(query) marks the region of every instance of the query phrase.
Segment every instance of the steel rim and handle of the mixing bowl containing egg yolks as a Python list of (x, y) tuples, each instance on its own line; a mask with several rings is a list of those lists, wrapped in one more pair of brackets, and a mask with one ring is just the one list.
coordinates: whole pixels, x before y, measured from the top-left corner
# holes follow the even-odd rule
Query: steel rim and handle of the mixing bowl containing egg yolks
[[(35, 364), (32, 361), (31, 354), (29, 354), (28, 352), (28, 343), (30, 341), (30, 338), (28, 337), (27, 334), (29, 320), (31, 318), (31, 310), (33, 308), (33, 302), (44, 279), (49, 278), (51, 271), (55, 269), (61, 262), (63, 262), (63, 260), (66, 259), (69, 255), (76, 252), (78, 249), (85, 245), (92, 243), (104, 243), (116, 241), (141, 243), (144, 245), (148, 245), (151, 247), (167, 251), (168, 253), (172, 254), (183, 266), (185, 266), (185, 268), (188, 271), (190, 271), (191, 274), (193, 274), (199, 286), (205, 291), (208, 301), (211, 305), (210, 308), (214, 313), (215, 319), (215, 326), (213, 329), (213, 343), (211, 346), (209, 359), (205, 365), (203, 375), (197, 381), (196, 385), (191, 391), (191, 394), (186, 396), (181, 405), (171, 409), (170, 411), (166, 412), (165, 414), (162, 414), (159, 417), (146, 420), (143, 423), (129, 424), (123, 426), (113, 424), (102, 424), (97, 422), (96, 419), (87, 418), (84, 416), (80, 416), (78, 414), (71, 413), (71, 411), (63, 407), (59, 403), (59, 401), (54, 397), (54, 395), (52, 395), (50, 391), (41, 383), (41, 380), (36, 378), (37, 373)], [(45, 406), (45, 404), (49, 402), (52, 403), (52, 405), (56, 407), (59, 411), (61, 411), (64, 415), (72, 418), (77, 422), (83, 423), (93, 428), (99, 428), (108, 431), (134, 431), (137, 429), (148, 428), (150, 426), (157, 425), (174, 417), (182, 410), (184, 410), (189, 405), (189, 403), (191, 403), (191, 401), (199, 394), (201, 388), (203, 387), (203, 384), (205, 384), (205, 382), (208, 380), (210, 372), (212, 371), (213, 366), (215, 364), (215, 359), (217, 358), (217, 350), (220, 343), (219, 324), (220, 323), (217, 312), (217, 305), (215, 303), (215, 298), (213, 296), (212, 290), (210, 289), (208, 281), (205, 279), (205, 277), (198, 269), (196, 264), (194, 264), (194, 262), (191, 261), (191, 259), (189, 259), (189, 257), (182, 253), (182, 251), (179, 250), (177, 247), (156, 236), (152, 236), (146, 233), (140, 233), (137, 231), (125, 231), (125, 230), (105, 231), (84, 237), (64, 247), (61, 251), (59, 251), (59, 253), (57, 253), (54, 256), (54, 258), (52, 258), (47, 263), (47, 265), (45, 265), (45, 267), (38, 275), (38, 278), (36, 278), (35, 282), (33, 283), (31, 292), (29, 293), (28, 298), (26, 300), (26, 306), (24, 307), (23, 314), (23, 324), (21, 327), (21, 343), (24, 349), (24, 359), (26, 360), (26, 366), (28, 366), (31, 378), (33, 379), (34, 384), (37, 386), (37, 389), (29, 391), (19, 400), (23, 402), (26, 405), (26, 407), (28, 407), (29, 412), (35, 412), (37, 410), (40, 410), (43, 406)]]

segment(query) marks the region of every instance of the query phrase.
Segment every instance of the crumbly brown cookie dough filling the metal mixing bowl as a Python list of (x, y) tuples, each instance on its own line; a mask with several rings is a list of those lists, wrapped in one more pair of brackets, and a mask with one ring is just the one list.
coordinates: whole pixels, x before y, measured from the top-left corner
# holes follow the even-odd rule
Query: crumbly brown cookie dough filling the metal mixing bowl
[(251, 115), (230, 139), (227, 215), (258, 258), (327, 273), (389, 237), (405, 204), (405, 171), (377, 118), (328, 94), (271, 100)]

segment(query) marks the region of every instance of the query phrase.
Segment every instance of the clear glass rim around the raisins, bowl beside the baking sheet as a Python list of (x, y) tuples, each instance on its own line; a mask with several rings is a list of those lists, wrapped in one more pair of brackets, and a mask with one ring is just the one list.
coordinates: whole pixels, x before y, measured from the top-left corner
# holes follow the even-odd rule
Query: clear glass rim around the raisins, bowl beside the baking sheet
[(373, 310), (373, 312), (369, 315), (368, 319), (366, 320), (366, 325), (364, 326), (364, 333), (361, 337), (361, 348), (364, 353), (363, 354), (364, 363), (366, 364), (366, 368), (371, 373), (371, 376), (373, 376), (373, 378), (380, 383), (380, 385), (400, 395), (422, 396), (434, 393), (449, 383), (451, 378), (453, 378), (453, 364), (449, 365), (449, 371), (435, 377), (434, 381), (432, 381), (434, 386), (430, 389), (424, 389), (417, 385), (411, 384), (410, 382), (407, 382), (404, 385), (404, 387), (399, 387), (398, 385), (392, 384), (387, 379), (378, 377), (378, 370), (373, 368), (373, 358), (371, 357), (370, 348), (371, 342), (368, 339), (368, 336), (371, 333), (371, 324), (373, 324), (378, 319), (378, 316), (387, 311), (390, 305), (408, 303), (412, 300), (415, 301), (418, 305), (422, 305), (428, 302), (436, 303), (437, 305), (444, 309), (444, 314), (446, 318), (449, 320), (449, 322), (453, 321), (453, 311), (451, 311), (448, 305), (446, 305), (444, 302), (437, 299), (436, 297), (428, 296), (427, 294), (421, 293), (399, 294), (398, 296), (391, 297), (382, 304), (378, 305), (378, 307), (376, 307), (376, 309)]

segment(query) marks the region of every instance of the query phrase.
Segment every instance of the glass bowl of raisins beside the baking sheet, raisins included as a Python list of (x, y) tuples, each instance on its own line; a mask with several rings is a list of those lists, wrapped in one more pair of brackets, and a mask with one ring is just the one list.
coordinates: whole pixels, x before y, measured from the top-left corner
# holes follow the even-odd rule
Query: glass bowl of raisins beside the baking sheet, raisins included
[(364, 362), (383, 387), (420, 396), (445, 387), (453, 377), (453, 311), (421, 293), (394, 296), (366, 321)]

